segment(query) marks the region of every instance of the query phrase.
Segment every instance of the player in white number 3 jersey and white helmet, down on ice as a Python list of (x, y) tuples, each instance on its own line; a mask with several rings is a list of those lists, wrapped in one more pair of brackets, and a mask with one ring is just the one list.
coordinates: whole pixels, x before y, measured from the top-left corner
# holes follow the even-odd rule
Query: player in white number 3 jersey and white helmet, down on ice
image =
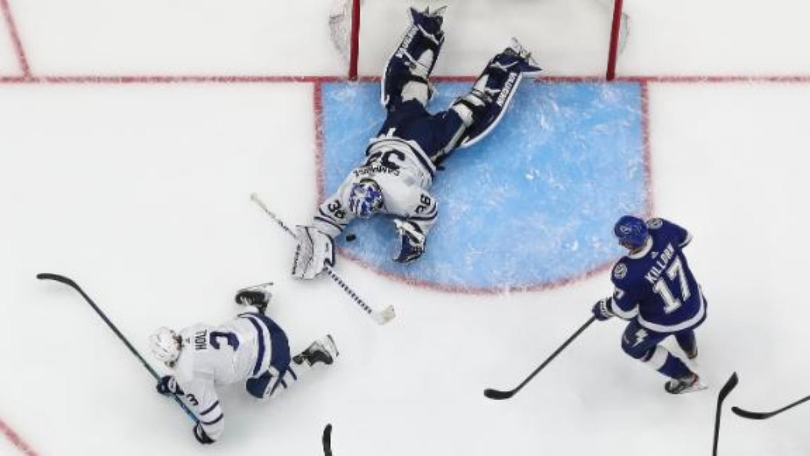
[(244, 381), (249, 394), (275, 397), (314, 364), (332, 364), (338, 350), (327, 335), (301, 354), (290, 356), (287, 335), (264, 315), (271, 293), (266, 286), (240, 290), (237, 303), (257, 308), (222, 325), (194, 325), (175, 332), (160, 328), (150, 337), (152, 353), (174, 374), (160, 378), (160, 394), (176, 394), (194, 412), (194, 437), (219, 440), (225, 426), (216, 387)]

